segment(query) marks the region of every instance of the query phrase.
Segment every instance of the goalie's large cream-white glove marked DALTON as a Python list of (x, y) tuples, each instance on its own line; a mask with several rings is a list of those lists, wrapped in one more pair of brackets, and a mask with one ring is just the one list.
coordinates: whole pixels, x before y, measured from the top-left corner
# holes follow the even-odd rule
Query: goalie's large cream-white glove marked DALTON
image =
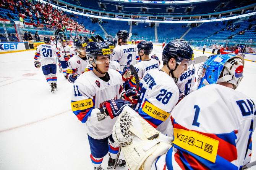
[(157, 131), (129, 106), (113, 126), (113, 139), (122, 146), (130, 170), (150, 170), (154, 160), (172, 147), (172, 138)]

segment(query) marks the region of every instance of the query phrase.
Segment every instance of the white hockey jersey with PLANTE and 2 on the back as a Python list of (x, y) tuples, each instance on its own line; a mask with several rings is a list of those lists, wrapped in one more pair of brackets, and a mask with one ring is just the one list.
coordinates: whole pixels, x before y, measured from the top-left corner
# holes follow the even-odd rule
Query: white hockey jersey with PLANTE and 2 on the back
[(120, 68), (122, 70), (125, 65), (136, 64), (136, 52), (133, 45), (125, 44), (120, 47), (116, 47), (113, 51), (113, 60), (120, 64)]

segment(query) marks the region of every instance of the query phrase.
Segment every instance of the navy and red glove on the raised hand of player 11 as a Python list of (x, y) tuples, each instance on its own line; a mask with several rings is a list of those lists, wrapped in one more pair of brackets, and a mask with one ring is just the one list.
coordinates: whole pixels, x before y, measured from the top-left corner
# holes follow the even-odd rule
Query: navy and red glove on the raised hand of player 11
[(117, 117), (120, 113), (122, 113), (123, 108), (125, 106), (132, 106), (131, 102), (126, 100), (117, 99), (117, 100), (109, 100), (105, 105), (105, 113), (110, 116), (111, 119)]

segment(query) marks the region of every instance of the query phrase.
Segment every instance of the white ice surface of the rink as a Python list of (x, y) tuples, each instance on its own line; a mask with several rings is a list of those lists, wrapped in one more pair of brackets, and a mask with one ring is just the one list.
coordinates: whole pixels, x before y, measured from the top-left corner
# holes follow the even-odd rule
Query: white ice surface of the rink
[[(195, 57), (202, 53), (194, 51)], [(71, 111), (73, 84), (57, 68), (57, 91), (50, 92), (42, 69), (34, 67), (34, 54), (0, 55), (0, 170), (93, 170), (85, 124)], [(162, 46), (154, 46), (152, 54), (161, 59)], [(245, 61), (243, 75), (237, 91), (255, 103), (256, 63)], [(256, 160), (255, 143), (251, 161)], [(105, 156), (105, 170), (107, 161)]]

